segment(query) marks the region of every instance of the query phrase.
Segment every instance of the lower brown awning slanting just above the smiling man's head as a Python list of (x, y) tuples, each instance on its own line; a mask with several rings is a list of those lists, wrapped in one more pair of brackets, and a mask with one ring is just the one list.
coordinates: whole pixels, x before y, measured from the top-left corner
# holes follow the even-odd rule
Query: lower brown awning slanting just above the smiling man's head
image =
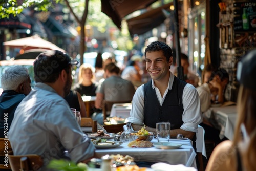
[(165, 4), (161, 7), (145, 12), (137, 17), (127, 19), (126, 21), (130, 35), (133, 36), (134, 34), (143, 34), (162, 24), (166, 19), (162, 9), (169, 11), (170, 5), (173, 5), (173, 3)]

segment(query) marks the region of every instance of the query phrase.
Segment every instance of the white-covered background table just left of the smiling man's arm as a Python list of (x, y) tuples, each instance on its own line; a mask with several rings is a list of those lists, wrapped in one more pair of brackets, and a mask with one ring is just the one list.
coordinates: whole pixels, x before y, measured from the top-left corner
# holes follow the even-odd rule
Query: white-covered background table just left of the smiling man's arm
[(132, 103), (115, 103), (112, 105), (110, 117), (119, 116), (123, 118), (130, 117)]

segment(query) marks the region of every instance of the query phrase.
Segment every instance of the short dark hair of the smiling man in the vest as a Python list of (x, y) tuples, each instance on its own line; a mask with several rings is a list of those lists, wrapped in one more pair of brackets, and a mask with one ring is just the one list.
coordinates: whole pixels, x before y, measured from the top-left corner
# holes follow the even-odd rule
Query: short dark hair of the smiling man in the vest
[(145, 58), (147, 52), (155, 52), (155, 51), (162, 51), (166, 60), (169, 61), (170, 57), (173, 57), (172, 49), (162, 41), (154, 41), (150, 45), (148, 45), (145, 49)]

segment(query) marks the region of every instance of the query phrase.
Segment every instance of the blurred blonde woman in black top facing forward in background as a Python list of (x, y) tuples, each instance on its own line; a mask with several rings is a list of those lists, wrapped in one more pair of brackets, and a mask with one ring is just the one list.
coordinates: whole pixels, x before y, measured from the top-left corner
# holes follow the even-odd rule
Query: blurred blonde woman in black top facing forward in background
[(83, 63), (79, 68), (78, 83), (73, 90), (79, 92), (82, 96), (96, 96), (95, 91), (98, 83), (95, 82), (95, 69), (88, 63)]

